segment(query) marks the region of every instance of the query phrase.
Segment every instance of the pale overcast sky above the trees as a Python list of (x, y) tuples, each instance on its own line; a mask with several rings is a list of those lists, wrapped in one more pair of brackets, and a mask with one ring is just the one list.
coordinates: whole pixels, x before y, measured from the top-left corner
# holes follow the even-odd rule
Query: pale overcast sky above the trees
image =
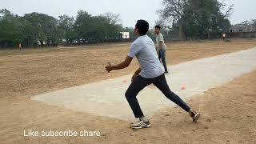
[[(226, 0), (226, 3), (234, 3), (231, 24), (256, 19), (256, 0)], [(153, 26), (161, 4), (162, 0), (0, 0), (0, 9), (6, 8), (18, 15), (38, 12), (55, 18), (63, 14), (75, 16), (78, 10), (93, 15), (112, 12), (120, 14), (123, 26), (134, 26), (138, 19), (145, 19)]]

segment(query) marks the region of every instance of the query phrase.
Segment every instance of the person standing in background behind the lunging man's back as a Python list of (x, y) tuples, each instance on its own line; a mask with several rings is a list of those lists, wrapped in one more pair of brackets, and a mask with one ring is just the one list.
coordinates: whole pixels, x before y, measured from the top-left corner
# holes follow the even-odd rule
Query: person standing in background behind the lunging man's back
[(165, 68), (165, 74), (169, 74), (166, 66), (166, 44), (161, 34), (161, 27), (155, 26), (154, 28), (156, 34), (156, 47), (158, 51), (158, 58), (159, 60), (162, 60), (162, 65)]

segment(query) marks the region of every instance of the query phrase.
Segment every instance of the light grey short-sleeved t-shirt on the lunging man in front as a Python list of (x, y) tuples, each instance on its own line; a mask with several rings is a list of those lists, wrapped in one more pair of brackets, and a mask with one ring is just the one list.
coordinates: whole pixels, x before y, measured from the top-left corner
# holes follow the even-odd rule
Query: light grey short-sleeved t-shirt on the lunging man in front
[(143, 78), (156, 78), (165, 72), (158, 59), (154, 42), (147, 35), (138, 37), (131, 44), (128, 56), (131, 58), (136, 56), (142, 69), (139, 75)]

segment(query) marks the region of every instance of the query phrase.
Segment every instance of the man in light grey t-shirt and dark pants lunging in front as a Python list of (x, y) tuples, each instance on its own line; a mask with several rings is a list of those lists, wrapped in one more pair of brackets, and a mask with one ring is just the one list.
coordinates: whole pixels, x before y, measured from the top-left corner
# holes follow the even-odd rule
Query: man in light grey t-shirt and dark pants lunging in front
[(162, 94), (165, 94), (166, 98), (169, 98), (178, 106), (182, 107), (183, 110), (186, 110), (186, 112), (188, 112), (192, 117), (193, 121), (197, 122), (200, 114), (190, 109), (190, 107), (187, 106), (186, 103), (178, 97), (178, 95), (174, 94), (170, 90), (166, 82), (164, 74), (165, 70), (158, 59), (154, 42), (146, 35), (148, 30), (149, 23), (145, 20), (138, 20), (134, 28), (134, 33), (138, 38), (131, 44), (130, 51), (126, 56), (126, 59), (114, 66), (112, 66), (109, 62), (109, 66), (105, 67), (107, 72), (110, 72), (111, 70), (120, 70), (128, 67), (135, 56), (138, 59), (140, 67), (134, 73), (132, 82), (125, 94), (130, 108), (134, 112), (135, 118), (139, 118), (139, 121), (131, 124), (130, 127), (133, 129), (142, 129), (151, 126), (149, 118), (146, 118), (146, 116), (142, 113), (136, 96), (141, 90), (152, 83), (162, 91)]

